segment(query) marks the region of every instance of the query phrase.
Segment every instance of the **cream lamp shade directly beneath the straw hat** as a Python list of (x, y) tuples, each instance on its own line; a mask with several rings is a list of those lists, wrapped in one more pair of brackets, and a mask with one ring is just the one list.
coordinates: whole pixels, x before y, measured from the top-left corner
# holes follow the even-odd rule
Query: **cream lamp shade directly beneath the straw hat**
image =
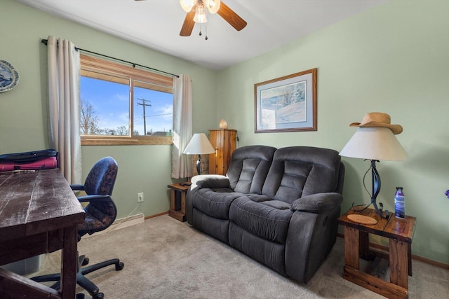
[(408, 158), (398, 139), (387, 127), (359, 127), (340, 155), (390, 161), (403, 161)]

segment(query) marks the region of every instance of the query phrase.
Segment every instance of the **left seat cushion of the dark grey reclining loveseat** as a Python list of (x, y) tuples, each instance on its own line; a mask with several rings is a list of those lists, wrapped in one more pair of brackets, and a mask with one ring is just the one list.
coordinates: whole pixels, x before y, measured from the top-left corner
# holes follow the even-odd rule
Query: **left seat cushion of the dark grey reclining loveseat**
[(208, 216), (218, 219), (229, 219), (231, 203), (241, 196), (241, 193), (232, 192), (231, 189), (199, 189), (193, 199), (194, 209), (198, 209)]

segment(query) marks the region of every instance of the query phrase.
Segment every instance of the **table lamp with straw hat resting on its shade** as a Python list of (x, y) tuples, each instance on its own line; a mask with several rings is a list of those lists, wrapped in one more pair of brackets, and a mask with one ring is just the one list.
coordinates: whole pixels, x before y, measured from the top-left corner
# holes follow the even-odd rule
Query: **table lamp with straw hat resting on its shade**
[[(358, 127), (358, 130), (344, 146), (340, 155), (371, 161), (370, 168), (363, 176), (363, 185), (365, 185), (366, 174), (371, 169), (371, 202), (364, 209), (373, 204), (380, 218), (388, 218), (388, 211), (385, 213), (386, 216), (382, 214), (382, 203), (380, 203), (380, 209), (376, 203), (376, 197), (380, 192), (380, 175), (376, 169), (376, 162), (380, 162), (380, 160), (403, 161), (408, 158), (406, 151), (394, 136), (400, 134), (403, 129), (401, 125), (391, 125), (390, 116), (380, 112), (366, 113), (361, 123), (351, 123), (349, 126)], [(368, 191), (368, 189), (366, 190)]]

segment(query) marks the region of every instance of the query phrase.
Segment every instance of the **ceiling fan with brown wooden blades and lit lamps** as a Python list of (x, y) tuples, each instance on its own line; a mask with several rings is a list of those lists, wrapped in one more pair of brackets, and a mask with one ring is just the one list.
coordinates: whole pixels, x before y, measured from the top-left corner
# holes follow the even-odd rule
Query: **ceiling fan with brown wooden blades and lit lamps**
[(220, 0), (180, 0), (180, 4), (182, 9), (187, 12), (184, 23), (182, 24), (180, 36), (190, 36), (195, 23), (207, 22), (206, 8), (209, 13), (217, 13), (220, 15), (220, 17), (225, 19), (237, 31), (245, 28), (247, 24), (245, 20)]

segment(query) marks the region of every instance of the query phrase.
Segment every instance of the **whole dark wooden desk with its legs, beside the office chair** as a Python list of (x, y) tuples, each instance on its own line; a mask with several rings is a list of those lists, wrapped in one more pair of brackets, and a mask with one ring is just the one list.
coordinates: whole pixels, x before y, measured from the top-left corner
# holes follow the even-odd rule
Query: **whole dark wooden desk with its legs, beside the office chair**
[(0, 268), (0, 298), (75, 298), (84, 211), (59, 169), (0, 172), (0, 265), (62, 249), (60, 292)]

